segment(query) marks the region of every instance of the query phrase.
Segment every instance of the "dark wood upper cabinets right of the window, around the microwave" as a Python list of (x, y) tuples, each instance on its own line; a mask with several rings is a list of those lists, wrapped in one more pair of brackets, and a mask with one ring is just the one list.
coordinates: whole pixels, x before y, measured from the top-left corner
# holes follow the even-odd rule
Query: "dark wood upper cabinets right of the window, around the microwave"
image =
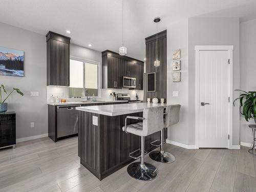
[(120, 56), (113, 51), (102, 52), (102, 88), (122, 89), (122, 77), (136, 78), (136, 90), (143, 90), (144, 62)]

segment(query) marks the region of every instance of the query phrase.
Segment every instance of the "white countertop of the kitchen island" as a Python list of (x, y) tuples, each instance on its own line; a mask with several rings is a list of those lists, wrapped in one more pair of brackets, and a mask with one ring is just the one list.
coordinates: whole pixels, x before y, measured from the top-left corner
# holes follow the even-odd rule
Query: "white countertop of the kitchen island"
[(143, 112), (145, 108), (153, 107), (153, 106), (169, 106), (169, 105), (176, 105), (170, 103), (124, 103), (124, 104), (109, 104), (109, 105), (98, 105), (98, 106), (78, 106), (76, 110), (96, 113), (101, 115), (108, 115), (108, 116), (118, 116), (118, 115), (125, 115), (131, 113), (138, 113)]

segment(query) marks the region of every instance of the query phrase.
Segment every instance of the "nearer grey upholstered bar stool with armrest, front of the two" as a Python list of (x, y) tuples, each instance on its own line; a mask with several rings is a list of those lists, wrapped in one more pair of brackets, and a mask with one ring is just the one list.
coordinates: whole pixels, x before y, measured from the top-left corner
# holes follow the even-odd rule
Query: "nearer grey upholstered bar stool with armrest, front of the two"
[[(163, 106), (145, 108), (143, 111), (143, 117), (127, 116), (125, 118), (125, 125), (122, 127), (123, 131), (125, 131), (125, 133), (131, 133), (141, 137), (141, 155), (133, 157), (132, 154), (134, 152), (129, 154), (129, 156), (134, 159), (140, 158), (140, 162), (131, 163), (127, 167), (128, 174), (136, 180), (151, 181), (158, 176), (157, 168), (152, 164), (144, 162), (144, 155), (147, 153), (144, 150), (144, 137), (162, 130), (163, 109)], [(143, 122), (127, 125), (127, 119), (138, 119), (143, 120)]]

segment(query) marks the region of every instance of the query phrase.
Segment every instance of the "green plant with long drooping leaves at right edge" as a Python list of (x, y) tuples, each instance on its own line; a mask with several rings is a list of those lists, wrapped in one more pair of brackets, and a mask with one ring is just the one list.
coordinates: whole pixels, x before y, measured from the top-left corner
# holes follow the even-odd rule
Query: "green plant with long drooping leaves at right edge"
[(254, 118), (254, 122), (256, 123), (256, 92), (246, 92), (243, 90), (235, 91), (243, 92), (237, 99), (234, 100), (240, 100), (240, 113), (244, 116), (246, 121), (249, 121), (250, 118)]

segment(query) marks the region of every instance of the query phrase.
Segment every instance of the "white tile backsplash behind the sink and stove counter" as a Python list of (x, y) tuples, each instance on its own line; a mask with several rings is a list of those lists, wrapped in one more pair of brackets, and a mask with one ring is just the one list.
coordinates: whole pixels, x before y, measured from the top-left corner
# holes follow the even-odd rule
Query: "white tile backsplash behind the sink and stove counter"
[[(128, 89), (100, 89), (100, 98), (97, 100), (109, 101), (111, 100), (110, 93), (130, 93), (131, 99), (136, 98), (136, 93), (139, 96), (140, 100), (143, 100), (143, 91), (141, 90), (128, 90)], [(59, 97), (68, 100), (84, 100), (83, 98), (79, 99), (69, 99), (69, 88), (68, 87), (57, 87), (57, 86), (47, 86), (47, 102), (50, 102), (50, 97), (53, 95), (54, 97)]]

